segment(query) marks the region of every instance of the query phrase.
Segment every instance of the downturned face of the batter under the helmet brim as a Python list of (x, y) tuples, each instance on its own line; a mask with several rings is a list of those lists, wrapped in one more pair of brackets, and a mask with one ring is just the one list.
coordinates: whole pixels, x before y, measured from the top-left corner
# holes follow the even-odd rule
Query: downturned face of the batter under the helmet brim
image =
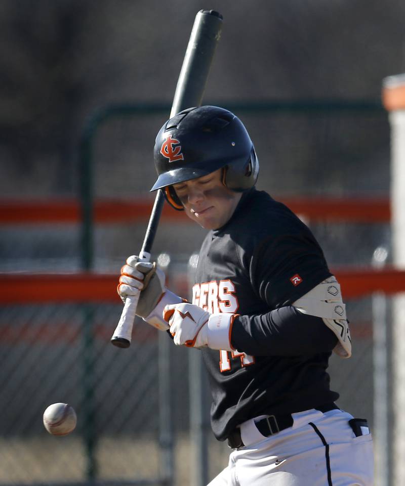
[(207, 230), (224, 226), (241, 197), (222, 184), (222, 169), (173, 187), (187, 216)]

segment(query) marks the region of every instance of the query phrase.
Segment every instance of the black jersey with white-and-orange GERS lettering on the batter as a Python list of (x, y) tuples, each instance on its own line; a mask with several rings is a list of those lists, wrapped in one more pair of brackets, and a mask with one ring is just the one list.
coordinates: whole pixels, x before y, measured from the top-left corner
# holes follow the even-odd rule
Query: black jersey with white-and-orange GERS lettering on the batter
[(225, 226), (208, 233), (193, 303), (240, 315), (231, 334), (235, 351), (203, 349), (218, 440), (250, 418), (308, 410), (339, 397), (326, 371), (337, 338), (320, 318), (291, 306), (330, 276), (310, 230), (255, 188), (242, 195)]

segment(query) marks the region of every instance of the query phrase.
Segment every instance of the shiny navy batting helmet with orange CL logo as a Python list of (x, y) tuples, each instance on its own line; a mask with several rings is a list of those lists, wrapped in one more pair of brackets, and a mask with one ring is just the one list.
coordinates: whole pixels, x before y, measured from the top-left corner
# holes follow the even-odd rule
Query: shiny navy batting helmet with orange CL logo
[(237, 116), (217, 106), (183, 110), (159, 130), (154, 146), (158, 174), (151, 191), (161, 189), (175, 209), (183, 209), (172, 185), (223, 167), (223, 184), (242, 192), (256, 183), (259, 161)]

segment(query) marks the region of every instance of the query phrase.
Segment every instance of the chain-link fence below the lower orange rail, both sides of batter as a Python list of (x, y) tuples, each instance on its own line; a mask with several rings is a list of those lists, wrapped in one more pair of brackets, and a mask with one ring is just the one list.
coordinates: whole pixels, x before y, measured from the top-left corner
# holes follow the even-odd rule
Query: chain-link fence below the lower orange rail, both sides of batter
[[(174, 260), (172, 282), (187, 279), (184, 266)], [(353, 356), (333, 356), (330, 363), (338, 405), (367, 417), (372, 427), (378, 391), (373, 369), (379, 374), (377, 404), (387, 407), (388, 401), (388, 370), (373, 361), (373, 327), (377, 320), (390, 329), (384, 311), (390, 301), (383, 295), (347, 300)], [(199, 474), (207, 479), (226, 465), (229, 450), (209, 428), (209, 390), (198, 375), (198, 352), (175, 348), (165, 333), (142, 321), (130, 349), (111, 346), (120, 312), (120, 303), (1, 307), (0, 484), (183, 486), (198, 484), (192, 475), (201, 465), (207, 469)], [(70, 403), (77, 412), (77, 428), (67, 437), (52, 437), (42, 425), (43, 411), (55, 402)]]

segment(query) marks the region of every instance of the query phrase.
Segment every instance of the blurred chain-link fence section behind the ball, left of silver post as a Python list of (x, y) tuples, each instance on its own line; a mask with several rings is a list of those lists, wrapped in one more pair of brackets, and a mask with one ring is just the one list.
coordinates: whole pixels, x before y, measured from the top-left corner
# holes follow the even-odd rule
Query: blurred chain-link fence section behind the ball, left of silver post
[[(129, 353), (109, 345), (120, 310), (66, 303), (2, 308), (0, 483), (159, 476), (157, 339), (138, 326)], [(76, 410), (71, 436), (52, 437), (43, 427), (43, 411), (56, 402)]]

